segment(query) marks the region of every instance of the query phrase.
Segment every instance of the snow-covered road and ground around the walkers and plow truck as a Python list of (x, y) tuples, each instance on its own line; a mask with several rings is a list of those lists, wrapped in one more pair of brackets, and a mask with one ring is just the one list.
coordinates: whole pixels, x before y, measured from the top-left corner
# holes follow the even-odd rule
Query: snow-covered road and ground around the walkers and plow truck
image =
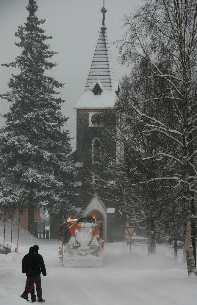
[(68, 268), (58, 262), (60, 241), (31, 237), (25, 242), (25, 239), (21, 236), (18, 253), (0, 254), (1, 304), (27, 304), (20, 298), (26, 281), (21, 272), (21, 260), (34, 244), (39, 245), (47, 269), (47, 276), (41, 279), (43, 298), (48, 305), (196, 303), (197, 278), (188, 278), (181, 256), (179, 262), (175, 261), (164, 246), (157, 246), (157, 254), (147, 257), (147, 246), (132, 246), (129, 255), (126, 242), (106, 243), (102, 267)]

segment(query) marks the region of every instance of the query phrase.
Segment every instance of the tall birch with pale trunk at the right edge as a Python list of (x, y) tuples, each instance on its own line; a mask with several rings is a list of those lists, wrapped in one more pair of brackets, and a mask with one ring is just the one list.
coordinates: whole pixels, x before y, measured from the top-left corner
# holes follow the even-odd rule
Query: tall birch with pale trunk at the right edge
[[(139, 122), (149, 131), (158, 131), (174, 143), (171, 154), (161, 152), (152, 156), (173, 163), (174, 171), (160, 174), (146, 181), (171, 181), (181, 200), (184, 219), (184, 246), (188, 275), (196, 273), (192, 248), (192, 217), (196, 197), (196, 129), (197, 129), (197, 2), (193, 0), (145, 1), (133, 15), (125, 16), (125, 36), (118, 41), (120, 62), (131, 65), (141, 58), (149, 62), (154, 73), (150, 77), (162, 79), (166, 88), (151, 100), (173, 108), (176, 128), (171, 128), (162, 118), (142, 113), (132, 106)], [(158, 63), (168, 62), (166, 73)], [(144, 160), (145, 161), (145, 160)]]

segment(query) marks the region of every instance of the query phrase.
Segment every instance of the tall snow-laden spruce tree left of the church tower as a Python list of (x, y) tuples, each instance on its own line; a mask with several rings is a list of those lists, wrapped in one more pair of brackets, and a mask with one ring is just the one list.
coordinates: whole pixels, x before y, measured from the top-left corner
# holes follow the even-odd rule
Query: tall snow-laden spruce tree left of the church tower
[(62, 129), (68, 118), (56, 91), (63, 84), (47, 75), (57, 65), (51, 61), (57, 52), (48, 45), (52, 36), (40, 27), (45, 20), (35, 14), (36, 1), (29, 0), (26, 9), (27, 22), (15, 33), (21, 55), (2, 64), (19, 73), (12, 74), (11, 90), (1, 95), (11, 106), (0, 134), (0, 203), (1, 211), (9, 214), (28, 208), (29, 231), (34, 233), (34, 210), (72, 208), (74, 169), (66, 158), (71, 151), (69, 131)]

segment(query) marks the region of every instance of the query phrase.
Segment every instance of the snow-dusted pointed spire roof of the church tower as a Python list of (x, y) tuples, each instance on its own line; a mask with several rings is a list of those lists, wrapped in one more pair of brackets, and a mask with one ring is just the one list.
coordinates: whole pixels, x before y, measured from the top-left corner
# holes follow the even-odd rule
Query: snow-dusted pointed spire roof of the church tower
[(103, 7), (102, 26), (92, 59), (84, 93), (74, 108), (112, 108), (119, 92), (105, 26), (106, 9)]

